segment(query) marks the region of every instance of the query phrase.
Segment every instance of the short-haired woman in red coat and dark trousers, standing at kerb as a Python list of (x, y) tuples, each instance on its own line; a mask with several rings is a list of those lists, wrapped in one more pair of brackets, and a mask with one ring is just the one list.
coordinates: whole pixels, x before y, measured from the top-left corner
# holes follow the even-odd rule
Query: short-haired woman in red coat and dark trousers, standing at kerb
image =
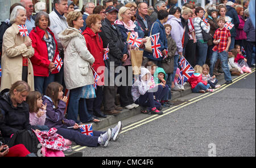
[[(97, 81), (96, 98), (86, 99), (88, 112), (96, 117), (106, 118), (100, 111), (101, 102), (103, 98), (103, 85), (104, 85), (104, 71), (105, 63), (103, 55), (106, 49), (103, 48), (103, 42), (98, 32), (101, 31), (101, 16), (99, 14), (89, 15), (86, 18), (86, 29), (82, 32), (85, 37), (86, 46), (90, 54), (95, 58), (92, 68), (100, 76)], [(94, 73), (95, 73), (94, 72)]]

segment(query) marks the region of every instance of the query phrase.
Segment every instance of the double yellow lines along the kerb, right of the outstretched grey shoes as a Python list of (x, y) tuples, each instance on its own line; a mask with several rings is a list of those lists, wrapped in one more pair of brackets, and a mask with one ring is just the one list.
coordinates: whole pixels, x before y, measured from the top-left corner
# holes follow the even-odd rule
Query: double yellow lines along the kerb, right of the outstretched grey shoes
[[(255, 68), (254, 68), (254, 70), (250, 74), (252, 74), (253, 72), (255, 72)], [(241, 80), (243, 77), (246, 77), (246, 76), (248, 76), (250, 74), (243, 74), (243, 75), (237, 77), (236, 79), (233, 80), (232, 84), (236, 83), (237, 81)], [(136, 122), (136, 123), (130, 124), (129, 126), (123, 127), (121, 133), (125, 133), (125, 132), (127, 132), (129, 130), (133, 130), (134, 128), (142, 126), (143, 124), (146, 124), (146, 123), (152, 122), (153, 120), (156, 120), (158, 118), (164, 117), (165, 115), (173, 113), (174, 111), (177, 111), (177, 110), (179, 110), (179, 109), (181, 109), (181, 108), (183, 108), (185, 106), (188, 106), (190, 104), (193, 104), (194, 102), (200, 101), (203, 98), (207, 98), (207, 97), (209, 97), (209, 96), (211, 96), (211, 95), (213, 95), (215, 93), (218, 93), (218, 92), (224, 90), (225, 88), (229, 87), (232, 84), (228, 84), (228, 85), (224, 84), (224, 85), (221, 86), (221, 88), (216, 89), (215, 92), (204, 93), (201, 96), (197, 96), (197, 97), (192, 98), (191, 100), (189, 100), (187, 102), (184, 102), (184, 103), (180, 104), (179, 106), (174, 106), (174, 107), (171, 107), (170, 109), (164, 110), (163, 111), (164, 114), (162, 114), (162, 115), (155, 114), (155, 115), (152, 115), (151, 117), (148, 117), (146, 119), (140, 120), (139, 122)]]

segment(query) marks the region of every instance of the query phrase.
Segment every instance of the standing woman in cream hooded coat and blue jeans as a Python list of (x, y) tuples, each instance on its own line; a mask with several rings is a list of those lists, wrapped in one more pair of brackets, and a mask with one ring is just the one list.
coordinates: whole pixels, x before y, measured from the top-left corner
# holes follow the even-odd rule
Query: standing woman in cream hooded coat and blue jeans
[[(84, 25), (79, 11), (69, 12), (68, 28), (59, 34), (64, 48), (64, 81), (69, 89), (68, 119), (76, 123), (99, 122), (88, 113), (86, 100), (82, 97), (83, 87), (94, 83), (91, 65), (95, 59), (86, 47), (86, 41), (80, 28)], [(79, 113), (80, 120), (77, 120)]]

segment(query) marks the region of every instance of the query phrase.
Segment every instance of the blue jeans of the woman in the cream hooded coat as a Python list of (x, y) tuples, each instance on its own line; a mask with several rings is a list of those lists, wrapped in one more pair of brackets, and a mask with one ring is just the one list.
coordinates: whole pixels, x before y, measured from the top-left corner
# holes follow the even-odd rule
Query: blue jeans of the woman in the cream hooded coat
[(77, 115), (79, 114), (80, 121), (82, 123), (89, 122), (92, 120), (92, 115), (88, 113), (86, 107), (85, 98), (82, 96), (82, 87), (71, 89), (69, 91), (69, 102), (68, 102), (68, 119), (75, 120), (76, 123), (79, 123), (77, 120)]

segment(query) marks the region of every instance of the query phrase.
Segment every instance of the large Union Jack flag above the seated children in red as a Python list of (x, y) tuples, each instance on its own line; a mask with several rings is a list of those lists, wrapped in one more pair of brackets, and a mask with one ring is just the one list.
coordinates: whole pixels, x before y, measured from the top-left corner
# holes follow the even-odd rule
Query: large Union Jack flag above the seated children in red
[(188, 80), (188, 78), (195, 72), (195, 70), (188, 63), (187, 59), (183, 57), (183, 55), (180, 58), (179, 66), (181, 69), (178, 82), (179, 84), (183, 85)]

